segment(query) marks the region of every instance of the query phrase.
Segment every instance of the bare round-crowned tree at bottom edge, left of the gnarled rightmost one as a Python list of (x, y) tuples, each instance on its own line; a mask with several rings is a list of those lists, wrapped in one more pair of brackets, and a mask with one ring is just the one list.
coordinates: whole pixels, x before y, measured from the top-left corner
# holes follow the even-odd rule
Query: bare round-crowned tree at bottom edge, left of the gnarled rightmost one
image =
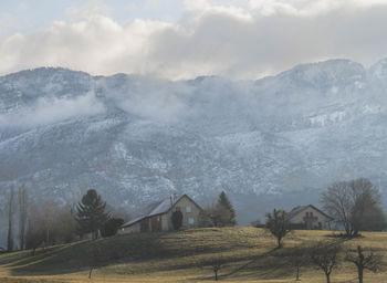
[(339, 242), (317, 242), (310, 250), (312, 262), (324, 271), (326, 283), (331, 283), (331, 273), (338, 265)]

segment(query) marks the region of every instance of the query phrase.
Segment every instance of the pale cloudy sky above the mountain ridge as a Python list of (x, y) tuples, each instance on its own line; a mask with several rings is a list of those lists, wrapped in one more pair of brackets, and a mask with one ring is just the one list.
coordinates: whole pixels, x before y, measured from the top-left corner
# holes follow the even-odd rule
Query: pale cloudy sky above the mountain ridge
[(254, 80), (300, 63), (387, 57), (387, 0), (1, 0), (0, 75)]

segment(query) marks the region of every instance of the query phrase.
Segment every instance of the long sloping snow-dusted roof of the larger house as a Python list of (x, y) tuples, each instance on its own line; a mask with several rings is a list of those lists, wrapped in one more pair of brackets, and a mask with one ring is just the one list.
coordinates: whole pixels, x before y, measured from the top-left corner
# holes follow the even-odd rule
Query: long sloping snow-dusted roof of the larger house
[(196, 205), (200, 210), (201, 207), (196, 203), (190, 197), (188, 197), (187, 195), (181, 195), (180, 197), (178, 198), (172, 198), (172, 197), (169, 197), (169, 198), (166, 198), (161, 201), (158, 201), (158, 202), (154, 202), (151, 205), (148, 206), (147, 208), (147, 212), (145, 212), (144, 214), (142, 216), (138, 216), (136, 217), (135, 219), (124, 223), (121, 228), (125, 228), (125, 227), (129, 227), (129, 226), (133, 226), (139, 221), (142, 221), (143, 219), (145, 218), (149, 218), (149, 217), (155, 217), (155, 216), (159, 216), (159, 214), (164, 214), (164, 213), (168, 213), (170, 209), (172, 209), (172, 207), (180, 200), (182, 199), (184, 197), (187, 197), (191, 202), (194, 202), (194, 205)]

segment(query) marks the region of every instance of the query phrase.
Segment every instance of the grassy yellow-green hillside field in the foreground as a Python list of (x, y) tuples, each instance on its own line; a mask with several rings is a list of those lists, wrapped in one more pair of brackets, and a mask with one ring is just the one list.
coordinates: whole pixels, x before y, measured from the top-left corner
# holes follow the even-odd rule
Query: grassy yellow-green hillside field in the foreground
[[(0, 254), (0, 282), (208, 282), (212, 263), (221, 261), (220, 281), (295, 282), (294, 249), (334, 239), (331, 231), (294, 231), (285, 247), (257, 228), (208, 228), (179, 232), (117, 235), (38, 250)], [(374, 248), (384, 254), (387, 233), (368, 232), (344, 242), (346, 248)], [(387, 253), (386, 253), (387, 255)], [(387, 282), (387, 256), (381, 270), (365, 273), (365, 282)], [(90, 266), (95, 265), (92, 280)], [(325, 282), (311, 263), (301, 269), (302, 282)], [(356, 271), (343, 263), (332, 282), (357, 282)]]

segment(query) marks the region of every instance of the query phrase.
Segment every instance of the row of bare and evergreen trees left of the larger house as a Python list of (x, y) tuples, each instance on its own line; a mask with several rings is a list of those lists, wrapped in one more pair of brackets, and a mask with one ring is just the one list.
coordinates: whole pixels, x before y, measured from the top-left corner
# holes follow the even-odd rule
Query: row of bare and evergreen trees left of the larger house
[[(10, 189), (7, 250), (32, 249), (70, 243), (85, 235), (93, 239), (114, 235), (129, 214), (107, 206), (94, 189), (76, 206), (56, 201), (35, 203), (24, 186)], [(17, 218), (18, 217), (18, 218)]]

